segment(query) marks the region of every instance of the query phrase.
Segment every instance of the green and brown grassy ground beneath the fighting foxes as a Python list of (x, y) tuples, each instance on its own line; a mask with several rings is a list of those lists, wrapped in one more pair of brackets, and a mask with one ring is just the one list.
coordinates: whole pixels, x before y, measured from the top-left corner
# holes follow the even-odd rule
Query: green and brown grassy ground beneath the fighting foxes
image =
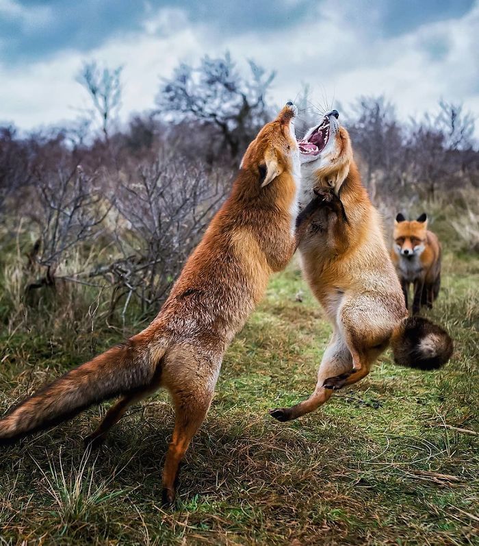
[[(160, 502), (173, 414), (159, 393), (98, 452), (82, 437), (107, 404), (2, 448), (0, 545), (479, 544), (479, 260), (448, 254), (443, 271), (428, 313), (455, 340), (443, 369), (400, 369), (386, 353), (357, 386), (282, 424), (268, 409), (309, 395), (331, 333), (293, 264), (226, 354), (175, 510)], [(68, 339), (44, 324), (1, 334), (2, 410), (120, 339), (93, 322)]]

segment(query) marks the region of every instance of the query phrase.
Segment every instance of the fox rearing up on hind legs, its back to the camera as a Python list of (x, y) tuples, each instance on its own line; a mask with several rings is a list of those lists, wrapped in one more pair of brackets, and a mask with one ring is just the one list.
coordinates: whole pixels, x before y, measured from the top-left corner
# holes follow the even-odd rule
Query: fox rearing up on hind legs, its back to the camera
[[(57, 425), (120, 396), (86, 444), (97, 447), (127, 408), (166, 388), (174, 406), (162, 501), (174, 502), (179, 463), (205, 419), (224, 351), (296, 249), (300, 160), (291, 101), (250, 143), (231, 193), (142, 332), (44, 386), (0, 420), (0, 443)], [(268, 226), (265, 229), (265, 226)]]

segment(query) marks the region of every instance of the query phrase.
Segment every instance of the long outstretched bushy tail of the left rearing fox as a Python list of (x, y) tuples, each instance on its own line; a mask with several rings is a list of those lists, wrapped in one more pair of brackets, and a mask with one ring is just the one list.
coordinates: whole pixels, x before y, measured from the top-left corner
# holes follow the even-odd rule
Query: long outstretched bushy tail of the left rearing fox
[(162, 351), (135, 338), (44, 386), (0, 420), (0, 445), (74, 417), (92, 404), (140, 390), (160, 373)]

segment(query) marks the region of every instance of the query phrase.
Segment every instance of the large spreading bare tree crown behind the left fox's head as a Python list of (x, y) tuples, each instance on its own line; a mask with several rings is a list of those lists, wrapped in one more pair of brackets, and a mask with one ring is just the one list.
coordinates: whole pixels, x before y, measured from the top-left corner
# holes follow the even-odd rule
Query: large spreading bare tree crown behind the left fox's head
[(206, 56), (195, 68), (181, 63), (161, 86), (158, 111), (170, 114), (174, 122), (215, 127), (222, 146), (237, 158), (268, 119), (266, 94), (275, 76), (252, 60), (248, 65), (250, 73), (242, 77), (229, 53), (222, 58)]

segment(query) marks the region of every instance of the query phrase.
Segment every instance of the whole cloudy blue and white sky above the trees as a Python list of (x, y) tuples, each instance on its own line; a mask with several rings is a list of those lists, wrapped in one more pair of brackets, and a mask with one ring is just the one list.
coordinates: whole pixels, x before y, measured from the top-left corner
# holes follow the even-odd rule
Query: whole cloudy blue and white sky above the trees
[(479, 116), (479, 0), (0, 0), (0, 123), (75, 119), (92, 59), (125, 66), (127, 119), (179, 61), (226, 50), (276, 69), (277, 103), (304, 82), (318, 104), (385, 94), (404, 118), (439, 99)]

